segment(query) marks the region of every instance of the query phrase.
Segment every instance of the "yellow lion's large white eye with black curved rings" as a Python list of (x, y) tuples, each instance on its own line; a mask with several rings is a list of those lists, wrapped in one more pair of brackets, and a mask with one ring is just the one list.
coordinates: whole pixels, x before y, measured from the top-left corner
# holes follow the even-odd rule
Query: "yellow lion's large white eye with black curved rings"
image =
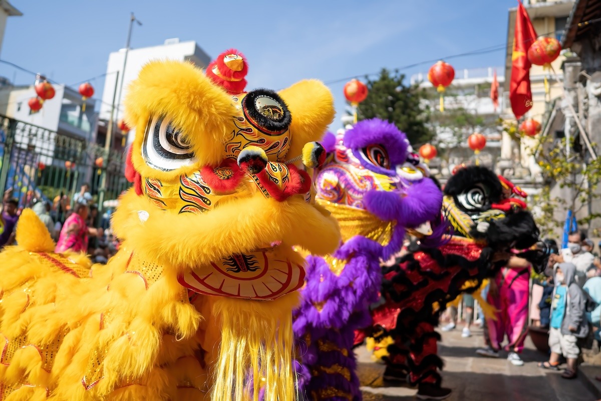
[(194, 163), (194, 152), (182, 131), (166, 117), (154, 117), (144, 133), (144, 161), (150, 167), (171, 171)]

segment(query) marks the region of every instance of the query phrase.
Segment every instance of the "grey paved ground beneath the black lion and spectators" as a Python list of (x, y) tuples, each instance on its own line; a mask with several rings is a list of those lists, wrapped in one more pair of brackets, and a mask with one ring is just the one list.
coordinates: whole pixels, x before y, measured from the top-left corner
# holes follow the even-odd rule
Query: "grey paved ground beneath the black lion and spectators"
[[(440, 352), (445, 360), (443, 384), (453, 389), (450, 401), (595, 401), (600, 397), (595, 385), (581, 374), (578, 379), (562, 379), (559, 373), (537, 367), (545, 355), (526, 341), (522, 358), (524, 366), (513, 366), (505, 358), (482, 358), (475, 350), (482, 345), (482, 332), (475, 329), (472, 337), (462, 338), (459, 330), (444, 333)], [(386, 387), (380, 375), (384, 367), (371, 362), (367, 350), (359, 349), (359, 376), (365, 401), (408, 401), (416, 390)], [(585, 367), (588, 375), (601, 374), (601, 367)], [(599, 387), (597, 387), (599, 388)]]

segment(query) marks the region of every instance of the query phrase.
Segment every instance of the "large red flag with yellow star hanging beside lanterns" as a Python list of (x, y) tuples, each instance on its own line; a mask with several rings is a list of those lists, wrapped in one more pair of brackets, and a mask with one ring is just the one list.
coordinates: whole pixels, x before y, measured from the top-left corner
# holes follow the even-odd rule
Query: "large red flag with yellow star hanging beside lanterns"
[(511, 110), (519, 120), (532, 108), (532, 92), (530, 90), (530, 67), (528, 49), (536, 40), (536, 31), (522, 2), (517, 6), (516, 34), (513, 38), (513, 54), (511, 55), (511, 81), (509, 84), (509, 100)]

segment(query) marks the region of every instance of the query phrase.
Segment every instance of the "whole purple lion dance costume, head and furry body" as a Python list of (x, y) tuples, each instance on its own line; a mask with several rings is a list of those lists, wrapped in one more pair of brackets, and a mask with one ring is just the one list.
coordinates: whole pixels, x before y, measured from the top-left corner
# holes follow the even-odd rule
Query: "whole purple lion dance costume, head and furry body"
[[(325, 164), (315, 171), (316, 200), (340, 224), (331, 256), (307, 257), (301, 305), (294, 311), (296, 372), (305, 400), (361, 400), (354, 332), (371, 324), (382, 284), (380, 260), (403, 244), (407, 228), (440, 221), (442, 192), (416, 167), (406, 135), (394, 124), (365, 120), (326, 134)], [(444, 225), (425, 242), (436, 245)]]

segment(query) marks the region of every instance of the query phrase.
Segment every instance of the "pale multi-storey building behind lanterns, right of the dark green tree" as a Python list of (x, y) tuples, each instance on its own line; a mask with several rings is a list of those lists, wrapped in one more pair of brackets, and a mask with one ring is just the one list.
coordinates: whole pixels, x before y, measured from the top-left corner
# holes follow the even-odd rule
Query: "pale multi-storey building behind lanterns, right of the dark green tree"
[[(490, 86), (495, 71), (499, 83), (499, 105), (496, 109), (492, 99), (490, 99)], [(448, 126), (433, 127), (436, 129), (434, 142), (441, 150), (446, 149), (447, 152), (445, 152), (444, 160), (435, 159), (430, 164), (433, 168), (440, 168), (439, 173), (442, 176), (450, 174), (455, 165), (468, 162), (469, 159), (474, 158), (474, 152), (467, 144), (468, 136), (474, 132), (483, 133), (486, 136), (486, 148), (478, 158), (484, 164), (496, 168), (496, 161), (501, 153), (501, 132), (496, 121), (502, 109), (504, 109), (502, 87), (505, 78), (503, 72), (504, 67), (455, 70), (455, 78), (444, 93), (445, 112), (451, 114), (454, 109), (462, 109), (477, 117), (474, 118), (474, 121), (480, 121), (480, 123), (466, 124), (461, 130)], [(420, 87), (426, 88), (435, 94), (436, 90), (428, 81), (427, 76), (427, 73), (413, 75), (410, 78), (410, 83), (412, 85), (419, 84)], [(436, 110), (438, 105), (438, 94), (436, 94), (430, 102), (424, 104), (424, 107), (429, 106)], [(444, 114), (441, 117), (444, 117)]]

